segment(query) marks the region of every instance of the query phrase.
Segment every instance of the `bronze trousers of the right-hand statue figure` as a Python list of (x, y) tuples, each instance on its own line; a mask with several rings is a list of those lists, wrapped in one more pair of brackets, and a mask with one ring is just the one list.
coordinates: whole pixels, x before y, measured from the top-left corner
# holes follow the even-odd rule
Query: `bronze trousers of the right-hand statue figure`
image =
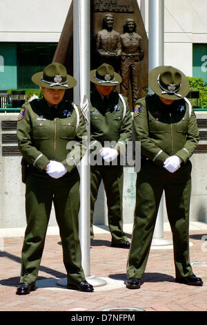
[(135, 107), (135, 102), (140, 97), (140, 62), (136, 62), (135, 57), (121, 60), (121, 77), (121, 94), (128, 97), (129, 82), (131, 82), (132, 102)]

